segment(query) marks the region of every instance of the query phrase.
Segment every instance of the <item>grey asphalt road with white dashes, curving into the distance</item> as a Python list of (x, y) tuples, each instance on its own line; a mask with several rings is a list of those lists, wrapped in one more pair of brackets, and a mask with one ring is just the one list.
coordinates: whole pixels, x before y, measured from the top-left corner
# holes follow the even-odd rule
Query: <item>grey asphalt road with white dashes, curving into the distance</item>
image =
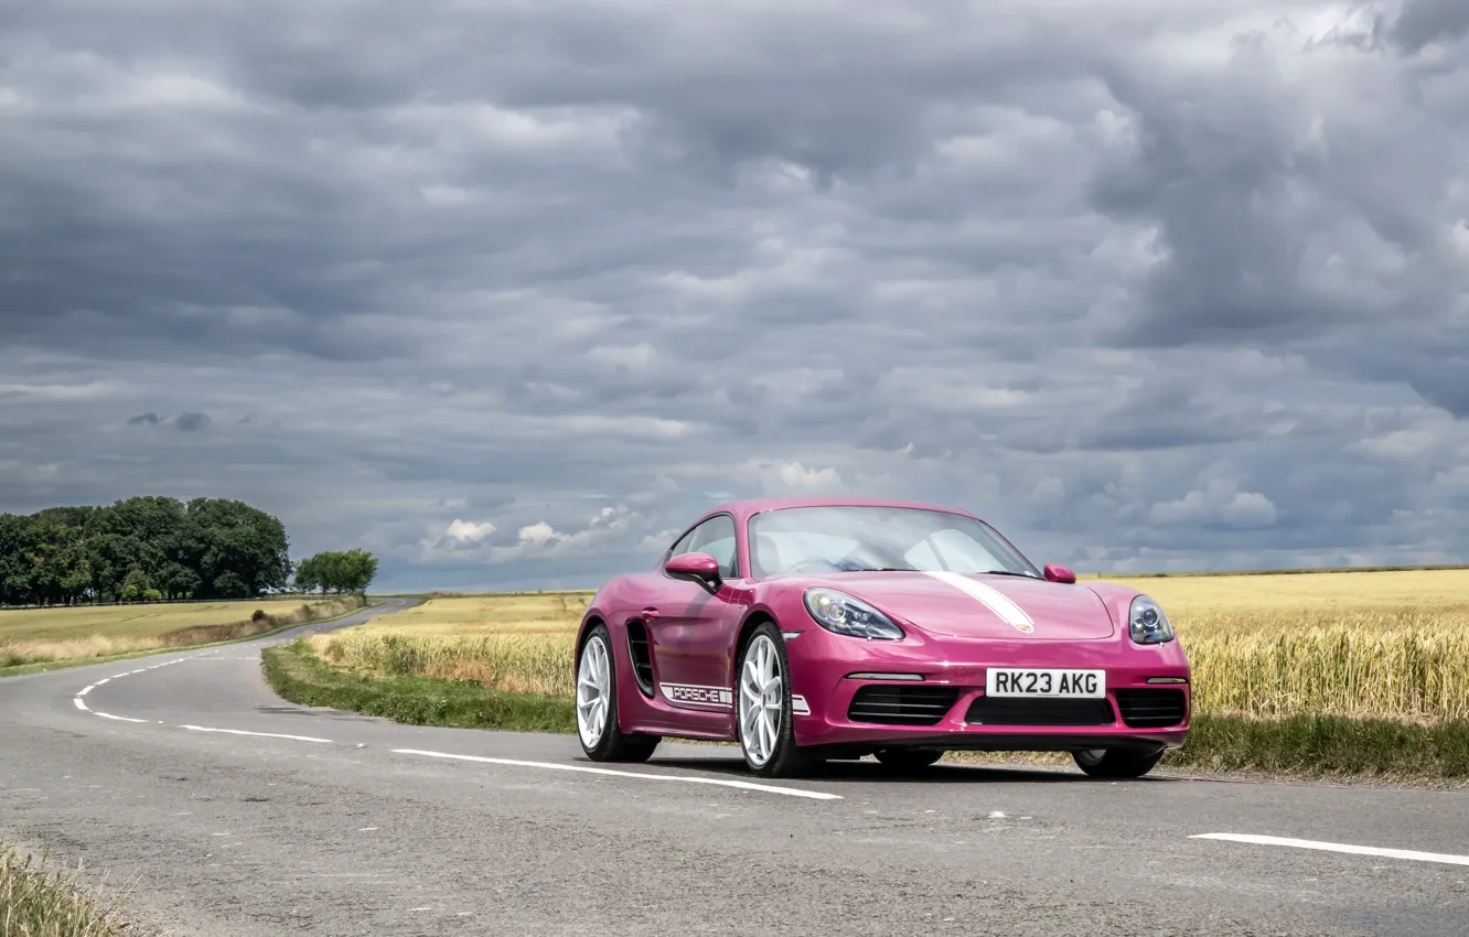
[(1469, 934), (1469, 792), (871, 761), (767, 784), (673, 743), (599, 773), (571, 736), (286, 703), (259, 649), (288, 637), (0, 680), (0, 837), (131, 881), (176, 934)]

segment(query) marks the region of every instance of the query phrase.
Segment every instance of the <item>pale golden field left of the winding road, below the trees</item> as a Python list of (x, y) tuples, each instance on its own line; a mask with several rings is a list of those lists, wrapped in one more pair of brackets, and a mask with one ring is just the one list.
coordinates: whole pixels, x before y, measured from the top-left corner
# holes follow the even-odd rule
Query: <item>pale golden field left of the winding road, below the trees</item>
[[(239, 637), (256, 609), (276, 624), (304, 621), (301, 599), (179, 602), (0, 611), (0, 667), (132, 654)], [(323, 618), (354, 608), (342, 599), (311, 602)], [(266, 623), (266, 627), (272, 627)], [(256, 627), (254, 630), (264, 630)]]

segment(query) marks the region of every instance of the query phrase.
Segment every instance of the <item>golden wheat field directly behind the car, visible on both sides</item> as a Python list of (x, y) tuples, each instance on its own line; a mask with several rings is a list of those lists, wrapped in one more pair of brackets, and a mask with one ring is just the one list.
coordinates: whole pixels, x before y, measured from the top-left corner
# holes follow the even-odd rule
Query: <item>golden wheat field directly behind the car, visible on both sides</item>
[[(1469, 570), (1111, 582), (1169, 612), (1200, 711), (1469, 717)], [(591, 596), (435, 598), (313, 643), (369, 673), (570, 693), (571, 636)]]

